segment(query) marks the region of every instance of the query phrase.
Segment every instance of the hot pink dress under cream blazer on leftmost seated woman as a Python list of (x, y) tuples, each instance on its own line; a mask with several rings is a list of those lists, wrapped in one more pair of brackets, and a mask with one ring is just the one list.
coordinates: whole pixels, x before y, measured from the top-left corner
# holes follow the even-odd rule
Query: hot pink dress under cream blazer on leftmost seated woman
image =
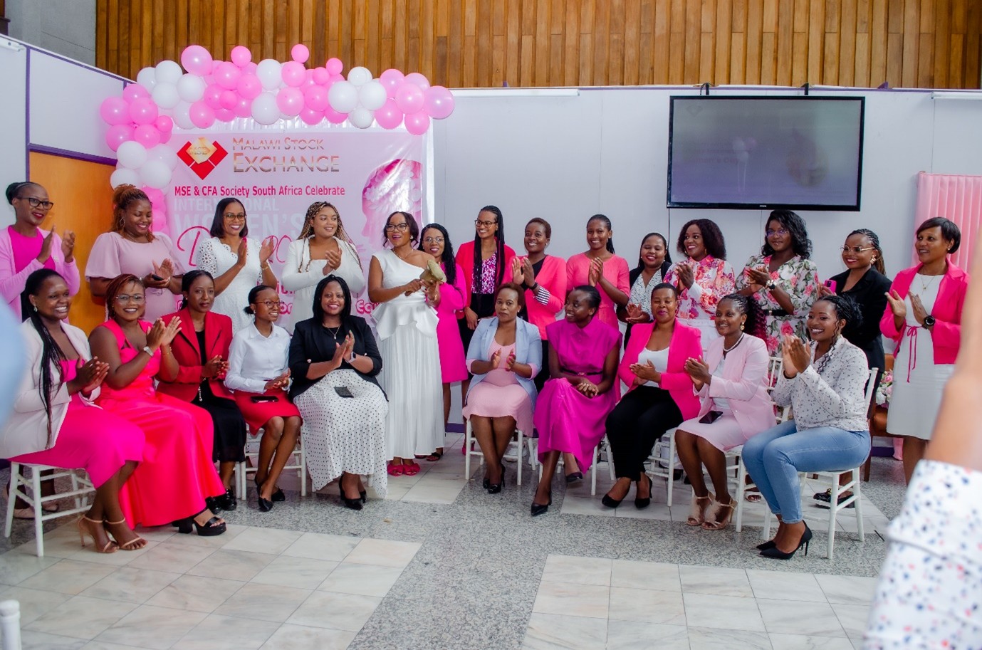
[[(63, 382), (75, 379), (76, 363), (78, 360), (61, 361)], [(121, 417), (85, 404), (81, 394), (76, 393), (69, 402), (55, 446), (11, 460), (66, 469), (84, 467), (92, 485), (99, 487), (128, 460), (143, 460), (143, 432)]]

